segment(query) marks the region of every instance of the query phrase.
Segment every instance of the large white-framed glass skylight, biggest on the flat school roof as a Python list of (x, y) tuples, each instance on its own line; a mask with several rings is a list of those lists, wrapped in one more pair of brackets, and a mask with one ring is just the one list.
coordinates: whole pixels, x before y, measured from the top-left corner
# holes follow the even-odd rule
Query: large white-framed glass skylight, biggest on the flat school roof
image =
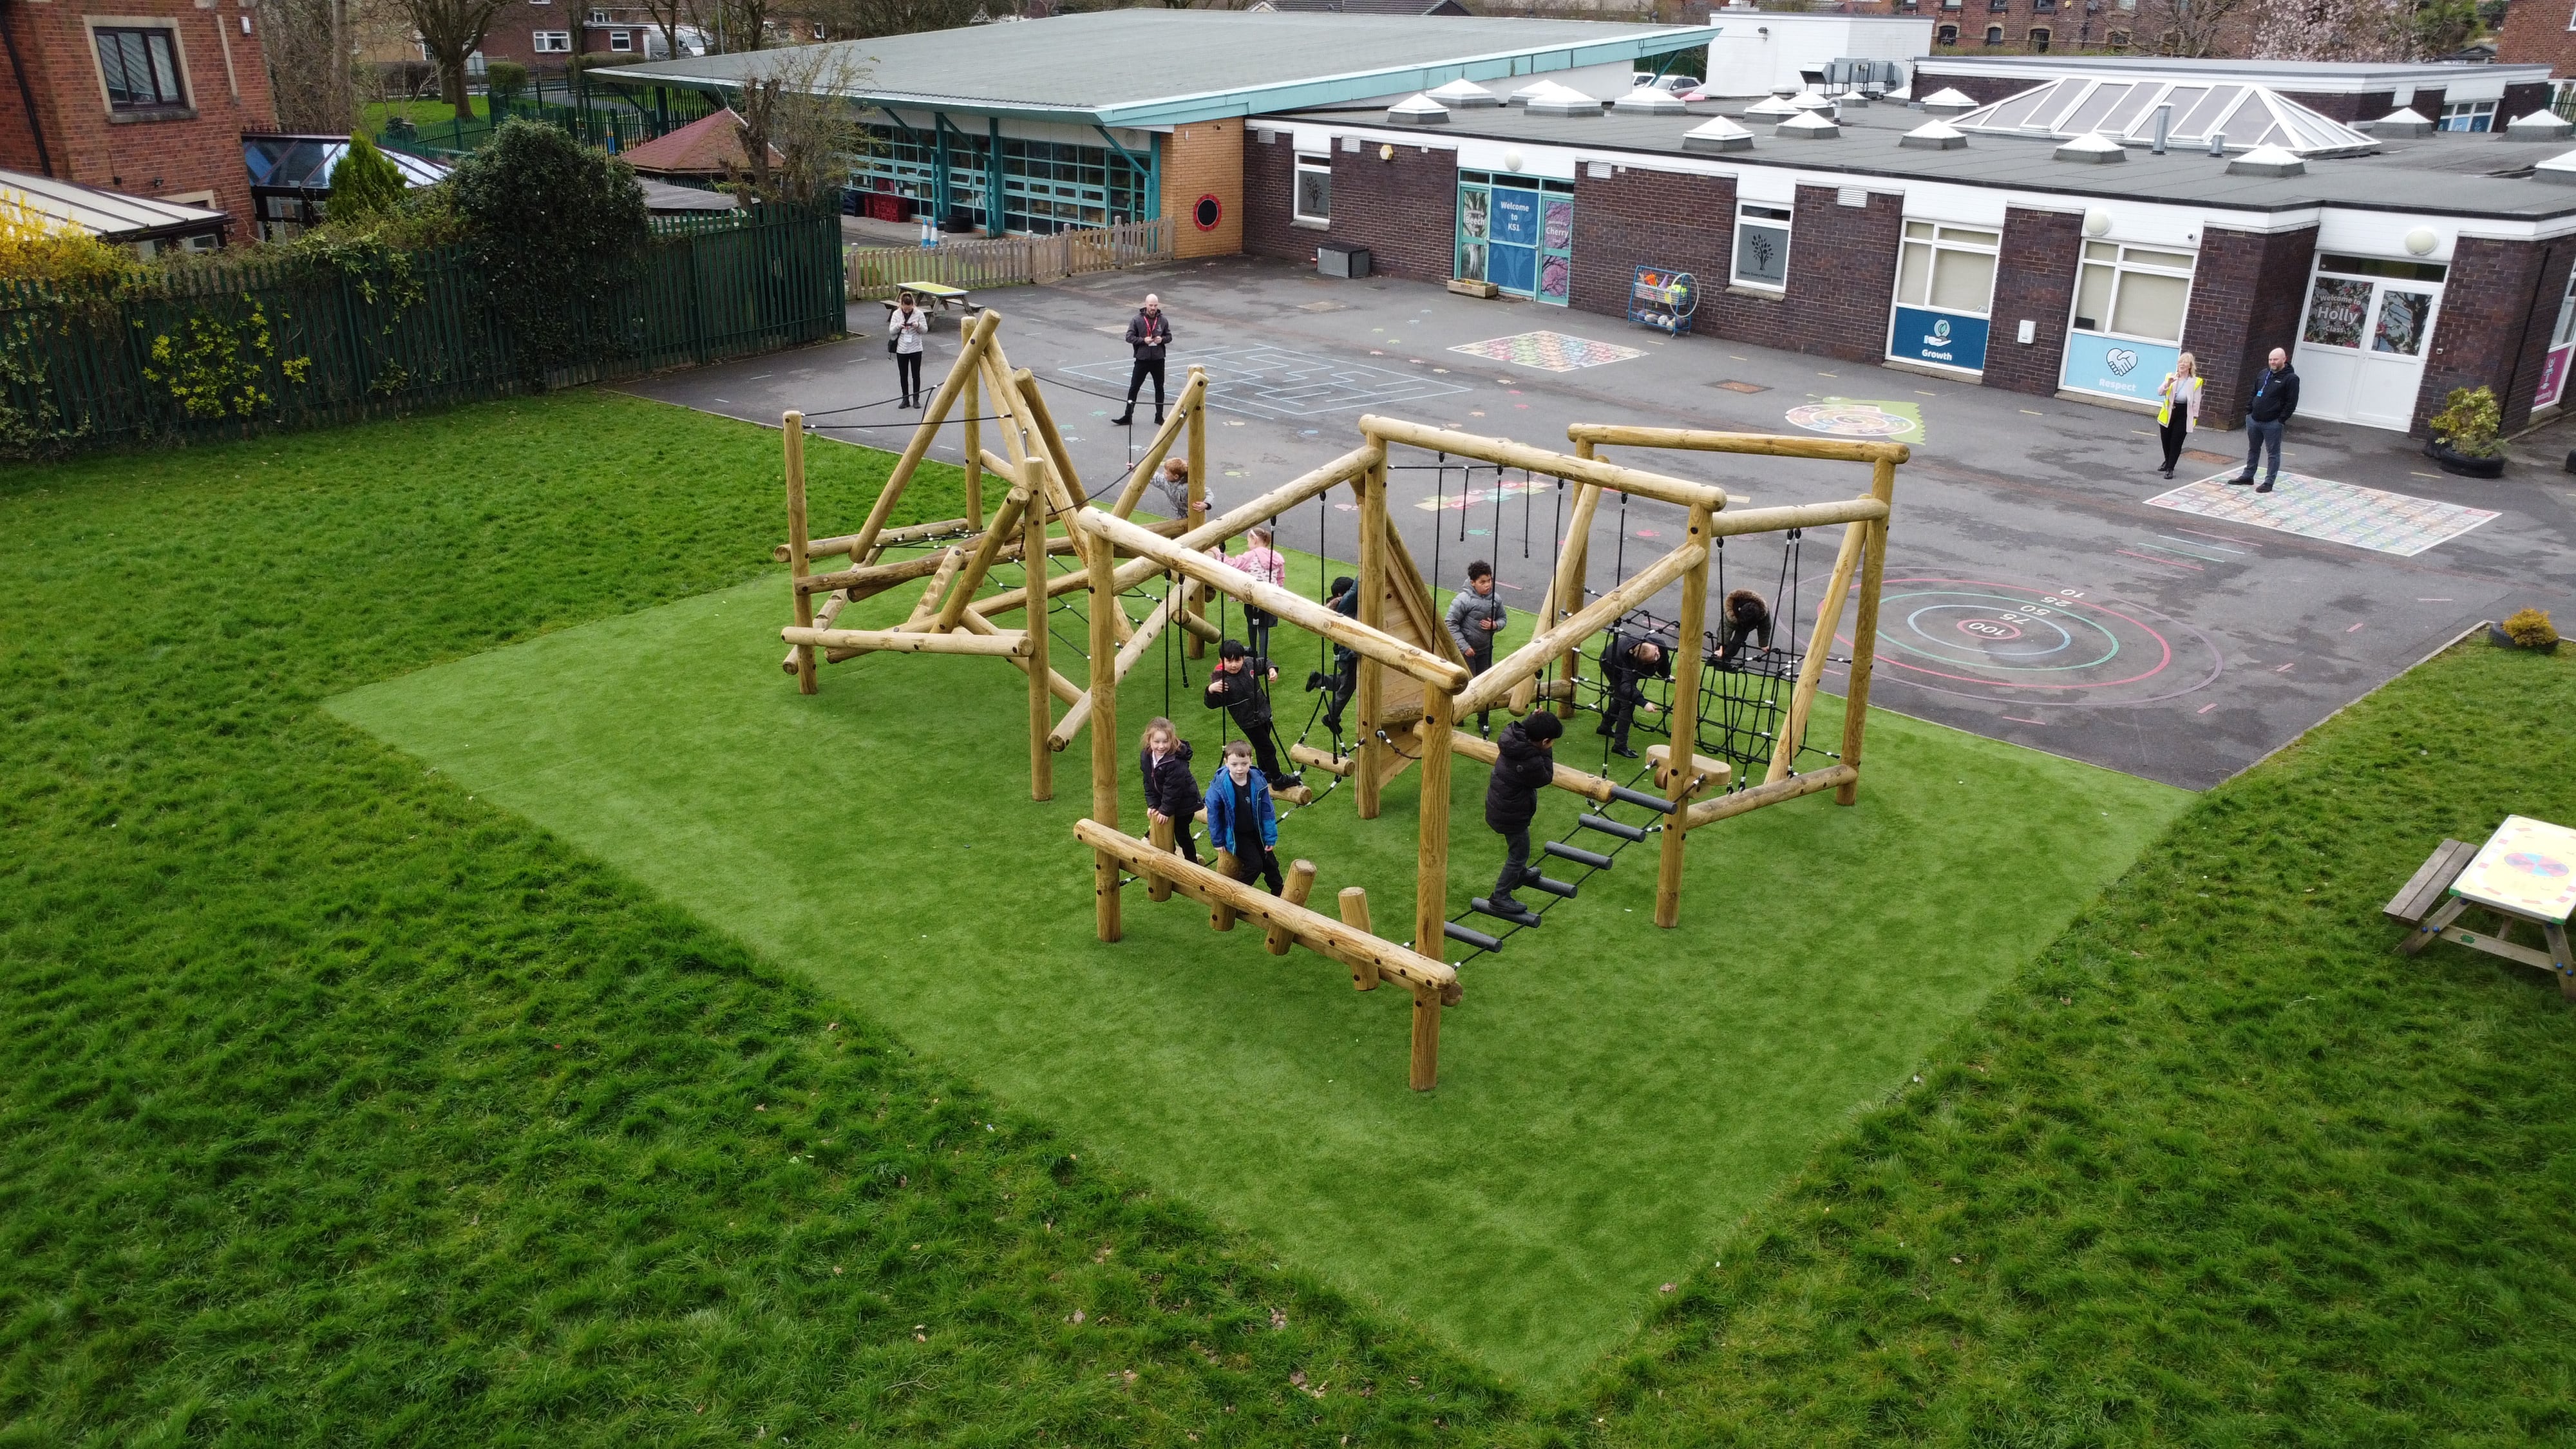
[(2367, 155), (2378, 142), (2321, 116), (2264, 85), (2233, 80), (2102, 80), (2069, 75), (1978, 106), (1950, 121), (1986, 137), (2076, 139), (2102, 134), (2117, 142), (2154, 142), (2156, 113), (2169, 116), (2166, 139), (2200, 144), (2226, 137), (2226, 150), (2280, 147), (2298, 157)]

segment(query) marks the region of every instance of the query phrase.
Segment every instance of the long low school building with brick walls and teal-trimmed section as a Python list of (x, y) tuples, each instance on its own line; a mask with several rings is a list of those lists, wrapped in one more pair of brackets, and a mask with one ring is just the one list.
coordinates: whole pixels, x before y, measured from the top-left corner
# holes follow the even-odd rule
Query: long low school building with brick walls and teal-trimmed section
[(2275, 345), (2308, 418), (2421, 431), (2478, 384), (2506, 428), (2561, 405), (2576, 139), (2545, 67), (1919, 57), (1896, 88), (1837, 67), (1880, 83), (1829, 95), (1636, 85), (1739, 23), (1115, 10), (863, 41), (881, 144), (853, 180), (1005, 229), (1188, 214), (1185, 255), (1365, 248), (1615, 320), (1641, 268), (1685, 273), (1703, 335), (2112, 407), (2192, 351), (2221, 425)]

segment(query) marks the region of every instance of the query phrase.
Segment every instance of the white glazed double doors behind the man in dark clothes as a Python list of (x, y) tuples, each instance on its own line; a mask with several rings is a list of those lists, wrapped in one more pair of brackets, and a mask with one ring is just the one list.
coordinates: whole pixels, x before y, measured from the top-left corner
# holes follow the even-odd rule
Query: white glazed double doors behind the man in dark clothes
[(2439, 263), (2318, 255), (2298, 330), (2298, 410), (2370, 428), (2414, 423), (2445, 271)]

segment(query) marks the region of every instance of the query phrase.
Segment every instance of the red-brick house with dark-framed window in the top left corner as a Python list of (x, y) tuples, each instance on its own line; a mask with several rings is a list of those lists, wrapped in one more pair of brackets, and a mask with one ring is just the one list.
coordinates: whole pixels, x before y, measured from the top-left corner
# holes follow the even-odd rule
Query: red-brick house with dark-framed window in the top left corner
[(252, 235), (242, 131), (273, 131), (250, 0), (0, 0), (0, 168), (211, 206)]

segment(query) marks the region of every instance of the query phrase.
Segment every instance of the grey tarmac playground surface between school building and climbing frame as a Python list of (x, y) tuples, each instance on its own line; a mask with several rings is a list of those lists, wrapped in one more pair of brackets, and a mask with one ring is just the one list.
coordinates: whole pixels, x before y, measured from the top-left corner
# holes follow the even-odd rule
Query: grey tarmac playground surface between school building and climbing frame
[[(1046, 384), (1092, 490), (1151, 436), (1149, 410), (1133, 428), (1113, 425), (1128, 379), (1121, 333), (1146, 291), (1172, 317), (1172, 392), (1190, 364), (1211, 374), (1216, 511), (1358, 446), (1363, 413), (1566, 451), (1569, 423), (1911, 443), (1873, 704), (2187, 789), (2287, 745), (2481, 619), (2524, 603), (2576, 619), (2576, 477), (2558, 472), (2576, 428), (2524, 438), (2506, 477), (2488, 482), (2439, 474), (2401, 433), (2300, 418), (2282, 487), (2254, 495), (2223, 482), (2244, 467), (2241, 431), (2195, 433), (2164, 480), (2154, 418), (2141, 413), (1255, 258), (979, 297), (1002, 309), (1002, 343)], [(855, 304), (853, 327), (845, 343), (629, 392), (770, 425), (799, 407), (822, 436), (902, 449), (917, 415), (889, 402), (884, 307)], [(925, 376), (935, 382), (953, 356), (953, 333), (935, 335)], [(956, 438), (943, 428), (933, 456), (956, 459)], [(1605, 456), (1721, 482), (1757, 505), (1868, 487), (1860, 464)], [(1569, 500), (1553, 480), (1468, 474), (1409, 449), (1391, 467), (1391, 516), (1437, 588), (1486, 557), (1507, 603), (1538, 606)], [(1347, 495), (1306, 505), (1280, 521), (1280, 541), (1347, 559), (1352, 508)], [(817, 518), (822, 531), (837, 526)], [(1669, 505), (1605, 508), (1589, 585), (1613, 588), (1680, 526)], [(1777, 536), (1741, 539), (1723, 554), (1723, 585), (1775, 603), (1793, 596), (1803, 627), (1837, 541), (1819, 531), (1790, 552)], [(1654, 611), (1674, 614), (1674, 598)], [(1842, 688), (1839, 668), (1826, 686)]]

